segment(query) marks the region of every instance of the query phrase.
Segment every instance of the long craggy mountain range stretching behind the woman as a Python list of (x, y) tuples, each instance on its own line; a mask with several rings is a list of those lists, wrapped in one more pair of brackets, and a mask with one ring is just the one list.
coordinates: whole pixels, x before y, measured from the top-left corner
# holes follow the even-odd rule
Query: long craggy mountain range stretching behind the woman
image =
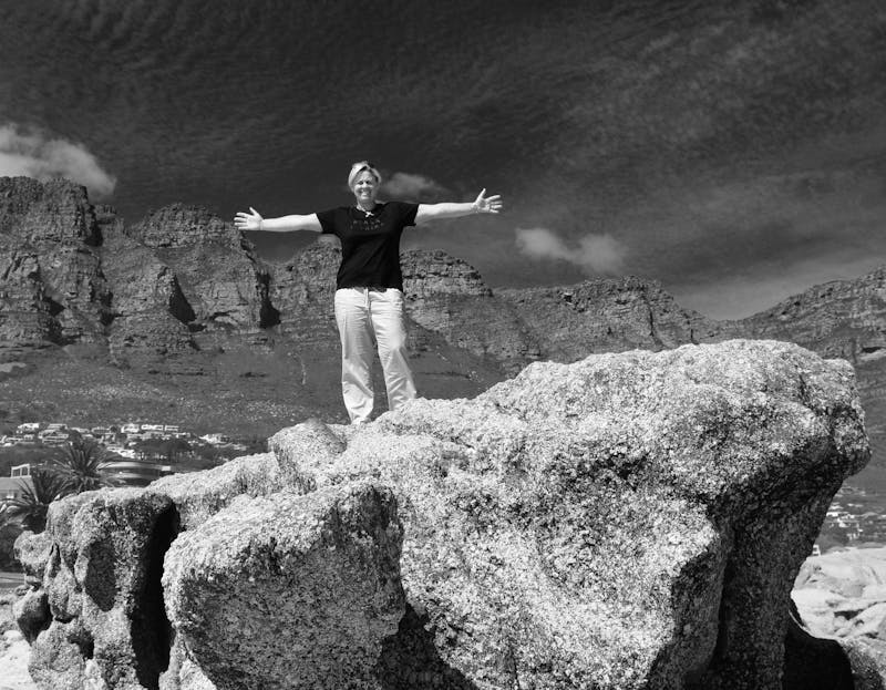
[[(0, 178), (0, 419), (141, 419), (264, 435), (317, 414), (343, 421), (332, 243), (320, 237), (275, 265), (198, 206), (127, 224), (81, 186)], [(637, 277), (493, 290), (442, 251), (408, 251), (402, 264), (425, 397), (473, 397), (539, 359), (790, 340), (856, 367), (875, 457), (884, 456), (886, 267), (717, 321)], [(375, 380), (383, 410), (380, 371)]]

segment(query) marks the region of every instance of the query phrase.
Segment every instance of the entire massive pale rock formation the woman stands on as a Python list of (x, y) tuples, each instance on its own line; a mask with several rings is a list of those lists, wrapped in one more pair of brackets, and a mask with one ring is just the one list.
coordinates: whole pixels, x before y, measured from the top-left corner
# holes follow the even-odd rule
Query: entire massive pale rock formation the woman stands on
[[(868, 457), (848, 364), (746, 341), (536, 363), (270, 446), (53, 508), (41, 687), (782, 688), (813, 643), (792, 583)], [(158, 596), (150, 535), (176, 529), (176, 632), (124, 678)]]

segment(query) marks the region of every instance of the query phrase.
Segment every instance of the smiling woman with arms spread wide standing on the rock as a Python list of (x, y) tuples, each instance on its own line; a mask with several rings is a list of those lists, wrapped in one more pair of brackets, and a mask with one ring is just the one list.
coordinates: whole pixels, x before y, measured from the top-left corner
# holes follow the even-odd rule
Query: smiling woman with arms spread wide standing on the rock
[(415, 398), (403, 322), (403, 228), (436, 218), (497, 214), (502, 209), (501, 197), (484, 196), (486, 189), (473, 204), (410, 204), (378, 202), (380, 186), (378, 168), (361, 161), (351, 166), (348, 175), (348, 187), (356, 200), (352, 206), (280, 218), (262, 218), (250, 207), (251, 213), (240, 212), (234, 219), (239, 230), (313, 230), (341, 240), (336, 322), (341, 338), (341, 391), (352, 424), (368, 422), (372, 413), (373, 341), (384, 371), (389, 409), (395, 410)]

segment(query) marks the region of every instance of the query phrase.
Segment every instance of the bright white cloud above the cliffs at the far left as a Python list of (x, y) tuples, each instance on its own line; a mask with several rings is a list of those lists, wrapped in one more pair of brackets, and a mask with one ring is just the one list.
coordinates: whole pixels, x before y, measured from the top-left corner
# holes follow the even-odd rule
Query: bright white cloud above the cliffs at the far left
[(21, 132), (14, 124), (0, 125), (0, 175), (65, 177), (86, 186), (96, 198), (113, 194), (117, 183), (83, 145), (42, 132)]

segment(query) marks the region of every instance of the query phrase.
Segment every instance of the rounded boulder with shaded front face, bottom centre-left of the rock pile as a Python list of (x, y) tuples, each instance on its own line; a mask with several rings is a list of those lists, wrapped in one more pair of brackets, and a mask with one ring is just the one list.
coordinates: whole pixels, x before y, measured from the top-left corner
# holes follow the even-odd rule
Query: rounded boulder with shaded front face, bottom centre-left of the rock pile
[(405, 608), (401, 542), (369, 483), (243, 497), (166, 554), (169, 620), (220, 690), (368, 687)]

